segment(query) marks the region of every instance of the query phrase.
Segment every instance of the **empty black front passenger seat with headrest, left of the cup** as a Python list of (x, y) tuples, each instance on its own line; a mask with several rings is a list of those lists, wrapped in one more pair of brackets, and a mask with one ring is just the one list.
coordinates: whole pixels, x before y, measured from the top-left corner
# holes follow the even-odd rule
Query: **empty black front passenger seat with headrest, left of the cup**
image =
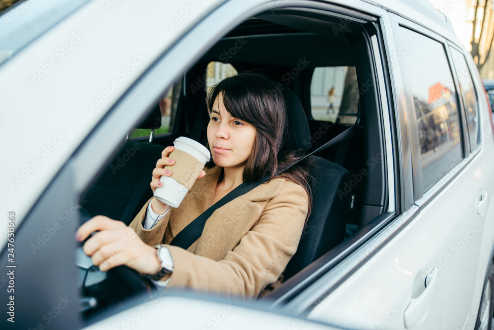
[[(151, 129), (160, 125), (161, 111), (157, 105), (136, 128)], [(118, 154), (82, 196), (82, 222), (95, 215), (106, 215), (130, 224), (144, 203), (153, 196), (149, 184), (163, 149), (163, 146), (150, 142), (125, 141)]]

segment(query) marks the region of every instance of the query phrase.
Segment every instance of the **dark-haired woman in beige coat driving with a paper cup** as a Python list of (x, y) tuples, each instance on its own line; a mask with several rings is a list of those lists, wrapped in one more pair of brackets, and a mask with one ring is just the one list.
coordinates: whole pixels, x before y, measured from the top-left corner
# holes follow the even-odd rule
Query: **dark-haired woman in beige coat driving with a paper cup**
[[(252, 73), (227, 78), (207, 97), (208, 149), (212, 159), (177, 208), (152, 198), (129, 227), (96, 216), (76, 233), (84, 252), (103, 271), (127, 265), (158, 285), (257, 297), (279, 285), (295, 253), (310, 209), (307, 165), (276, 171), (299, 159), (288, 141), (285, 101), (267, 78)], [(153, 170), (153, 192), (170, 176), (166, 147)], [(219, 207), (187, 250), (169, 246), (185, 226), (243, 182), (271, 179)], [(153, 247), (155, 246), (155, 247)]]

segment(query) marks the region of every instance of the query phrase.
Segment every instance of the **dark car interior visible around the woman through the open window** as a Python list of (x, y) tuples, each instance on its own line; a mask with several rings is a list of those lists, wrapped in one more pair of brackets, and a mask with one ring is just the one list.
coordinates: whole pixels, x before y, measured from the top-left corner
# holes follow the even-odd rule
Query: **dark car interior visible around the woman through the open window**
[[(208, 87), (225, 75), (254, 71), (283, 90), (293, 148), (303, 154), (347, 129), (357, 132), (310, 156), (311, 216), (284, 284), (262, 299), (277, 299), (311, 278), (376, 226), (376, 217), (387, 210), (382, 117), (373, 83), (380, 64), (370, 50), (371, 36), (380, 38), (379, 31), (370, 16), (344, 14), (349, 12), (279, 9), (228, 32), (122, 138), (82, 195), (81, 222), (102, 214), (128, 225), (152, 197), (149, 183), (163, 149), (179, 136), (206, 143)], [(168, 125), (165, 133), (159, 132), (162, 119)], [(96, 291), (84, 289), (83, 294), (99, 300)], [(88, 304), (86, 313), (101, 306)]]

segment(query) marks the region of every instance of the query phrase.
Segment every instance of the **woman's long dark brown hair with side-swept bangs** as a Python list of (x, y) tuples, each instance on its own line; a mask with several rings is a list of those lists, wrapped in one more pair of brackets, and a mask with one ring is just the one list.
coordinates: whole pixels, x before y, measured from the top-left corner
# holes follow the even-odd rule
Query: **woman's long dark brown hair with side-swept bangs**
[[(256, 129), (254, 148), (244, 168), (244, 182), (256, 182), (266, 175), (270, 175), (272, 179), (277, 171), (302, 158), (299, 150), (288, 145), (290, 139), (285, 98), (273, 82), (251, 72), (226, 78), (209, 90), (207, 95), (209, 112), (220, 92), (228, 113), (253, 125)], [(212, 159), (206, 164), (207, 167), (213, 165)], [(307, 218), (312, 206), (312, 194), (307, 182), (309, 165), (306, 159), (279, 175), (298, 183), (307, 192), (309, 196)]]

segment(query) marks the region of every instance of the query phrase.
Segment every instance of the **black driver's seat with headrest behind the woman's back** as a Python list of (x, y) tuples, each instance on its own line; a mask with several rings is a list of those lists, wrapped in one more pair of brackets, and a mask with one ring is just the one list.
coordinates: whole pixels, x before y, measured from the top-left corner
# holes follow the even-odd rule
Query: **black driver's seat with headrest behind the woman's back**
[[(311, 147), (309, 124), (296, 95), (286, 85), (275, 82), (287, 103), (291, 144), (303, 152)], [(342, 194), (350, 173), (344, 167), (320, 157), (310, 156), (309, 186), (312, 212), (304, 228), (295, 255), (284, 272), (285, 280), (343, 242), (349, 198)]]

